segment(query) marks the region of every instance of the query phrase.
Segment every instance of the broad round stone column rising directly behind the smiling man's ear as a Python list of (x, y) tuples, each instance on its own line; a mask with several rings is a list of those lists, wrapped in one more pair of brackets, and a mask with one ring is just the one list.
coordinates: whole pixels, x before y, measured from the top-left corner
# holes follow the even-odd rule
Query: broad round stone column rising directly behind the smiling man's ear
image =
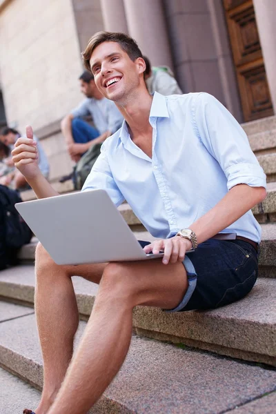
[(152, 66), (172, 68), (172, 57), (161, 0), (124, 0), (128, 32)]

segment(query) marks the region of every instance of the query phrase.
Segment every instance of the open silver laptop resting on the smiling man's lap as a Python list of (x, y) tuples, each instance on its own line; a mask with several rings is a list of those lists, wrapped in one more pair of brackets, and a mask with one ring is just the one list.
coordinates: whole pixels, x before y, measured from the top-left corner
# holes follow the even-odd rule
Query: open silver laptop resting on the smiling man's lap
[(105, 190), (15, 204), (57, 264), (123, 262), (146, 254)]

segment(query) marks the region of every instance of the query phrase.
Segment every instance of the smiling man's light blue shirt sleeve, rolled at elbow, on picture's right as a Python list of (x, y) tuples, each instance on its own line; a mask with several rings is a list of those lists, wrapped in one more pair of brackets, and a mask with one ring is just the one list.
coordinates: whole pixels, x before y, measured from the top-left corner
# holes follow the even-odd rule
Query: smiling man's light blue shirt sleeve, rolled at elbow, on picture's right
[(199, 140), (224, 170), (228, 190), (237, 184), (266, 188), (264, 170), (233, 115), (205, 92), (197, 95), (194, 113)]

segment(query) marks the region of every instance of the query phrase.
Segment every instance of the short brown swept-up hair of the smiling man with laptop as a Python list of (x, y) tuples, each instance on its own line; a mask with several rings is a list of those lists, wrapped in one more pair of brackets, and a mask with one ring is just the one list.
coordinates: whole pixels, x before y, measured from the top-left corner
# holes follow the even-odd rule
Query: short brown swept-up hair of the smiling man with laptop
[(115, 41), (116, 43), (119, 43), (121, 48), (128, 54), (132, 61), (135, 61), (137, 57), (143, 57), (136, 41), (132, 39), (132, 37), (129, 37), (128, 34), (119, 32), (97, 32), (93, 34), (91, 39), (88, 41), (86, 50), (81, 53), (83, 64), (89, 72), (91, 72), (90, 59), (92, 52), (104, 41)]

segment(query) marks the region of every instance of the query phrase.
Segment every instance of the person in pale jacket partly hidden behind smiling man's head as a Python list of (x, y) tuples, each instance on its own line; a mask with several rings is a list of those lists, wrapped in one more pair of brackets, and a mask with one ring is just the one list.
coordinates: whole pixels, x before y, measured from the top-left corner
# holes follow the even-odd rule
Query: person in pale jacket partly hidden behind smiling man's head
[(182, 95), (174, 75), (168, 66), (151, 66), (146, 56), (143, 56), (146, 63), (145, 81), (148, 92), (159, 92), (161, 95)]

